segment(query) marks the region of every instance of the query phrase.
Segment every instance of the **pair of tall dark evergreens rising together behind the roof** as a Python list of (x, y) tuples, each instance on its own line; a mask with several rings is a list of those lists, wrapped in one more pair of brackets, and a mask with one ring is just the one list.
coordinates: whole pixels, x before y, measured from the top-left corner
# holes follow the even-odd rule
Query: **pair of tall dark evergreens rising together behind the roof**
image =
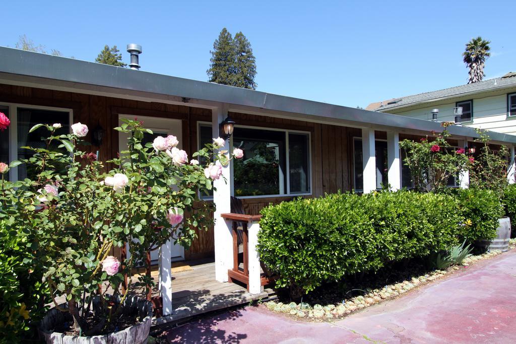
[(222, 85), (256, 89), (256, 62), (247, 38), (238, 32), (233, 39), (224, 27), (213, 43), (208, 81)]

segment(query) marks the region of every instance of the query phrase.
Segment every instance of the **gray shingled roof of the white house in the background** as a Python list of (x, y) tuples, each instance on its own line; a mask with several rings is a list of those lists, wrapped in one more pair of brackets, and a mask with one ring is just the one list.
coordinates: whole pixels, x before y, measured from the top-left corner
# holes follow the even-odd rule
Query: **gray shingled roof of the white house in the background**
[(516, 86), (516, 73), (507, 73), (504, 77), (483, 80), (478, 83), (466, 84), (456, 87), (445, 88), (444, 90), (432, 91), (420, 94), (409, 95), (405, 97), (395, 98), (389, 101), (384, 101), (383, 106), (369, 109), (372, 111), (384, 111), (386, 109), (394, 109), (398, 107), (405, 107), (421, 102), (432, 100), (439, 100), (443, 98), (467, 95), (473, 92), (503, 89), (511, 86)]

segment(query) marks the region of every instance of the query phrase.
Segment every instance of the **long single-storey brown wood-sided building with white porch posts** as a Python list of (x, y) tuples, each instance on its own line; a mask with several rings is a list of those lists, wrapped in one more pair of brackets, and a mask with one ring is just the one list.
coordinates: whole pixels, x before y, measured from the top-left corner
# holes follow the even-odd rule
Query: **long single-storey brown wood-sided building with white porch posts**
[[(249, 236), (245, 236), (249, 269), (244, 271), (248, 271), (249, 291), (259, 293), (263, 282), (255, 251), (259, 230), (255, 215), (264, 206), (338, 190), (371, 192), (380, 183), (399, 189), (402, 178), (410, 178), (401, 172), (399, 140), (442, 130), (426, 115), (423, 119), (388, 113), (379, 116), (364, 109), (7, 47), (0, 47), (0, 61), (0, 111), (11, 120), (9, 130), (0, 132), (1, 161), (29, 157), (30, 152), (22, 147), (38, 144), (44, 133), (38, 129), (29, 134), (28, 129), (42, 122), (61, 123), (63, 133), (69, 132), (74, 122), (87, 124), (90, 132), (85, 140), (92, 145), (84, 149), (98, 153), (102, 161), (124, 149), (126, 138), (112, 128), (125, 117), (137, 117), (154, 135), (176, 135), (189, 155), (219, 136), (219, 125), (228, 116), (236, 122), (224, 150), (238, 146), (245, 156), (223, 168), (224, 178), (215, 181), (216, 191), (206, 198), (215, 204), (214, 228), (199, 231), (189, 250), (169, 244), (160, 251), (160, 292), (164, 300), (168, 295), (168, 302), (171, 278), (166, 267), (171, 258), (215, 256), (215, 279), (228, 281), (229, 271), (237, 265), (232, 220), (223, 215), (231, 212), (232, 195), (242, 200), (249, 215), (233, 218), (249, 222)], [(516, 78), (497, 79), (499, 85), (513, 81), (516, 83)], [(498, 96), (505, 97), (508, 92), (504, 89), (502, 93)], [(477, 111), (476, 103), (474, 107)], [(448, 110), (442, 107), (441, 119), (448, 119), (444, 117)], [(469, 127), (448, 129), (456, 145), (477, 137)], [(516, 136), (490, 135), (494, 143), (506, 144), (514, 152)], [(144, 140), (153, 138), (149, 135)], [(9, 172), (11, 181), (33, 173), (23, 166)]]

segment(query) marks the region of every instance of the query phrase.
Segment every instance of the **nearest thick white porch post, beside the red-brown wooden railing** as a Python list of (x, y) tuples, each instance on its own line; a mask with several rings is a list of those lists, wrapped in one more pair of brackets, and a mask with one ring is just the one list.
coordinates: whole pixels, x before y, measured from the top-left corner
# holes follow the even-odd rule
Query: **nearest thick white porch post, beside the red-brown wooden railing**
[[(212, 110), (212, 134), (219, 137), (219, 124), (228, 117), (228, 109), (221, 106)], [(229, 142), (225, 141), (220, 150), (230, 151)], [(222, 175), (214, 181), (216, 191), (213, 192), (215, 211), (215, 279), (219, 282), (228, 281), (228, 269), (233, 266), (233, 236), (232, 222), (225, 221), (220, 214), (231, 212), (231, 169), (229, 164), (222, 167)]]

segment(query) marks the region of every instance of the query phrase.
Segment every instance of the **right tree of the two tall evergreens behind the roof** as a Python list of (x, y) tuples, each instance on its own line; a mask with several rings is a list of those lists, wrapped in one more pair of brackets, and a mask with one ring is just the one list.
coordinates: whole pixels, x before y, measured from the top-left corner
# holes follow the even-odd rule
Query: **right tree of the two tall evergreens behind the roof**
[(256, 59), (253, 55), (251, 43), (242, 32), (235, 35), (235, 84), (237, 87), (256, 89)]

